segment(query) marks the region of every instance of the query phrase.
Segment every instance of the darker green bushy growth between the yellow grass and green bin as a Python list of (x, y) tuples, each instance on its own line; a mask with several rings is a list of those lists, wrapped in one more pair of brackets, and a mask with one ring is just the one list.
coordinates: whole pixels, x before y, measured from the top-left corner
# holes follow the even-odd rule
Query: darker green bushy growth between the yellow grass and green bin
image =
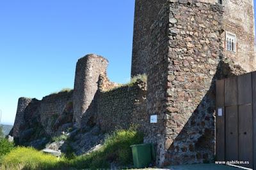
[(143, 135), (140, 132), (129, 129), (120, 130), (108, 136), (102, 148), (88, 155), (81, 155), (70, 160), (70, 166), (76, 168), (109, 168), (111, 162), (122, 165), (132, 163), (131, 145), (143, 143)]

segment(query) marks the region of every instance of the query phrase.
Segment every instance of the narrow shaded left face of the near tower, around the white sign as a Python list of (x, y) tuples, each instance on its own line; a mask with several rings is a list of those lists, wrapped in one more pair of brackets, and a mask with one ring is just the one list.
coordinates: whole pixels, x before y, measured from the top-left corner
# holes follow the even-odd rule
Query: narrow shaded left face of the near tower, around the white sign
[[(150, 26), (149, 55), (147, 65), (148, 94), (147, 112), (157, 115), (157, 124), (147, 127), (148, 134), (145, 143), (154, 143), (156, 146), (156, 164), (164, 161), (164, 122), (166, 110), (166, 84), (168, 74), (168, 18), (169, 6), (166, 2), (156, 15), (156, 21)], [(147, 17), (147, 16), (144, 16)]]

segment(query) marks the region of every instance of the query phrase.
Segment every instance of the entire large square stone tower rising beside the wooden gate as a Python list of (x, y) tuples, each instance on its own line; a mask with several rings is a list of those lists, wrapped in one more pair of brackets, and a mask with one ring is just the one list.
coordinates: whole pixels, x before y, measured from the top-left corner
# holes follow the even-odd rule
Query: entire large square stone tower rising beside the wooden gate
[(131, 76), (148, 76), (158, 166), (214, 160), (214, 80), (255, 69), (253, 21), (252, 0), (136, 0)]

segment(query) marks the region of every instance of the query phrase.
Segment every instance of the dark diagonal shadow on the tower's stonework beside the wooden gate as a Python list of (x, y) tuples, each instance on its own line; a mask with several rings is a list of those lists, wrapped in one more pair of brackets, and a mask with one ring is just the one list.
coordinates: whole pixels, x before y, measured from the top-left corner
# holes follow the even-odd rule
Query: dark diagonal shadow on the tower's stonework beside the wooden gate
[[(234, 67), (234, 69), (232, 69)], [(215, 146), (215, 82), (244, 73), (239, 66), (230, 66), (221, 58), (217, 71), (211, 80), (211, 87), (193, 111), (188, 122), (173, 140), (167, 151), (165, 165), (192, 164), (214, 161)]]

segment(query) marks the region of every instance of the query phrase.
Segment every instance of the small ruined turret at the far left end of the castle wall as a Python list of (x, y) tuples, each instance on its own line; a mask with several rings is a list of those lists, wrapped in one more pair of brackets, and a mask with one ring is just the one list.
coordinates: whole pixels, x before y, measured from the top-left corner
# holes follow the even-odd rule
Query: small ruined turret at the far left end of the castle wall
[(27, 108), (28, 104), (31, 103), (32, 99), (20, 97), (17, 106), (17, 112), (15, 117), (15, 122), (12, 129), (12, 136), (17, 138), (20, 134), (20, 125), (24, 124), (24, 110)]

